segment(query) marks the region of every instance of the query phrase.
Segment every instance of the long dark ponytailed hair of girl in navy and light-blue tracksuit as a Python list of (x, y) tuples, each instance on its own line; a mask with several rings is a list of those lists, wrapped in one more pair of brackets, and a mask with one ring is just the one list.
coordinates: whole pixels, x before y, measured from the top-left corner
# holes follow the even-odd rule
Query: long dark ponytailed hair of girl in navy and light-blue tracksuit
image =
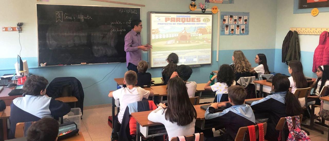
[(302, 108), (298, 99), (289, 91), (290, 81), (286, 76), (278, 73), (272, 79), (274, 92), (287, 92), (285, 98), (286, 114), (288, 116), (296, 116), (302, 113)]

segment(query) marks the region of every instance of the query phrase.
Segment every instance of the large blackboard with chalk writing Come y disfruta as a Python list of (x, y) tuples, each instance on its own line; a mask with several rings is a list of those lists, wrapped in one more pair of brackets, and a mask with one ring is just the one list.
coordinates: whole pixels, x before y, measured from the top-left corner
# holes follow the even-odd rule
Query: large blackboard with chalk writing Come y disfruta
[(124, 37), (140, 8), (37, 4), (38, 62), (126, 62)]

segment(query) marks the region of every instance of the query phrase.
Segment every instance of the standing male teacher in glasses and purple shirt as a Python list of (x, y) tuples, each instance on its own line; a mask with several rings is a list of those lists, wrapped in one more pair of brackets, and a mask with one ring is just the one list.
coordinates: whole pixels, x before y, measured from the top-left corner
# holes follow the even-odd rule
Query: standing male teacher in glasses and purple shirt
[(152, 45), (142, 45), (140, 32), (142, 31), (142, 21), (133, 20), (131, 21), (132, 30), (127, 33), (124, 38), (124, 51), (126, 51), (126, 60), (128, 70), (137, 71), (138, 62), (142, 60), (142, 52), (148, 51), (152, 48)]

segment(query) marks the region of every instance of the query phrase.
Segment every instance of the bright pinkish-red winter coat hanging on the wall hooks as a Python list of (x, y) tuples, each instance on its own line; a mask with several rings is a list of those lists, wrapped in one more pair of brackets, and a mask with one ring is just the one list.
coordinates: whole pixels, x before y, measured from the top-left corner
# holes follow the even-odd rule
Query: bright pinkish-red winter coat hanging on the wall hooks
[(329, 33), (322, 32), (313, 56), (313, 72), (316, 72), (318, 66), (329, 64)]

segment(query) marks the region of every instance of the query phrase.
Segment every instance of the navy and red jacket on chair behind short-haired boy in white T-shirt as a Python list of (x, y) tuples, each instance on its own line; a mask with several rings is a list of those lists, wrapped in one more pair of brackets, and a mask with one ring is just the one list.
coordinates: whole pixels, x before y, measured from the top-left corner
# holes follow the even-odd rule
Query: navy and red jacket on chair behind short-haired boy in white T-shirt
[(150, 111), (157, 109), (157, 106), (152, 100), (142, 100), (127, 105), (123, 114), (121, 127), (119, 131), (119, 141), (130, 141), (132, 136), (136, 135), (137, 122), (131, 113)]

